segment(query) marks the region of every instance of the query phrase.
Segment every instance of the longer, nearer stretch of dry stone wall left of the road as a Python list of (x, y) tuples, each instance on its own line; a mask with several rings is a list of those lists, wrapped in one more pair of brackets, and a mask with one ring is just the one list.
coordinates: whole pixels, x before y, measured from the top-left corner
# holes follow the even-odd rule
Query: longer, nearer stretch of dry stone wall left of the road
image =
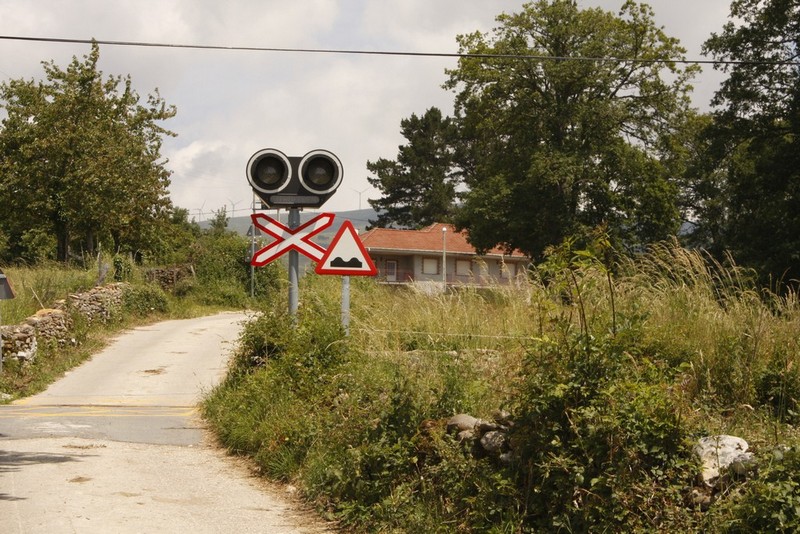
[(59, 345), (75, 343), (72, 317), (79, 314), (89, 322), (106, 322), (122, 305), (122, 296), (129, 284), (118, 283), (74, 293), (25, 319), (22, 324), (0, 326), (3, 338), (3, 359), (16, 358), (32, 362), (41, 342)]

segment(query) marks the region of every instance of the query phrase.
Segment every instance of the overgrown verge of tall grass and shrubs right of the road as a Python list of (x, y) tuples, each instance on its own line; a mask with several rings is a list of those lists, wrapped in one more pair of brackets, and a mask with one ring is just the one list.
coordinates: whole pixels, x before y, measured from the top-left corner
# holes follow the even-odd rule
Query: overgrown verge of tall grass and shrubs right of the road
[[(440, 296), (304, 279), (296, 326), (249, 325), (204, 413), (232, 451), (364, 532), (792, 531), (800, 302), (675, 246), (555, 249), (528, 283)], [(445, 429), (510, 413), (510, 458)], [(696, 439), (735, 434), (759, 476), (693, 498)], [(781, 462), (775, 451), (783, 451)], [(784, 454), (785, 453), (785, 454)]]

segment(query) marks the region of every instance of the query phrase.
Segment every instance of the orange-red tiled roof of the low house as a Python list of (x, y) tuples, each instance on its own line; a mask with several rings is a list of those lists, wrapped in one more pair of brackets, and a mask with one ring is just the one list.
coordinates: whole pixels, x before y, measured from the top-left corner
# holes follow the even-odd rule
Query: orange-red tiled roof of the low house
[[(442, 229), (446, 228), (445, 249), (449, 254), (469, 254), (474, 256), (475, 247), (467, 241), (466, 232), (456, 232), (452, 224), (434, 223), (422, 230), (396, 230), (394, 228), (373, 228), (358, 237), (367, 248), (375, 251), (402, 251), (402, 252), (442, 252)], [(493, 248), (486, 252), (486, 256), (505, 256), (526, 258), (523, 253), (515, 250), (507, 254), (503, 249)]]

